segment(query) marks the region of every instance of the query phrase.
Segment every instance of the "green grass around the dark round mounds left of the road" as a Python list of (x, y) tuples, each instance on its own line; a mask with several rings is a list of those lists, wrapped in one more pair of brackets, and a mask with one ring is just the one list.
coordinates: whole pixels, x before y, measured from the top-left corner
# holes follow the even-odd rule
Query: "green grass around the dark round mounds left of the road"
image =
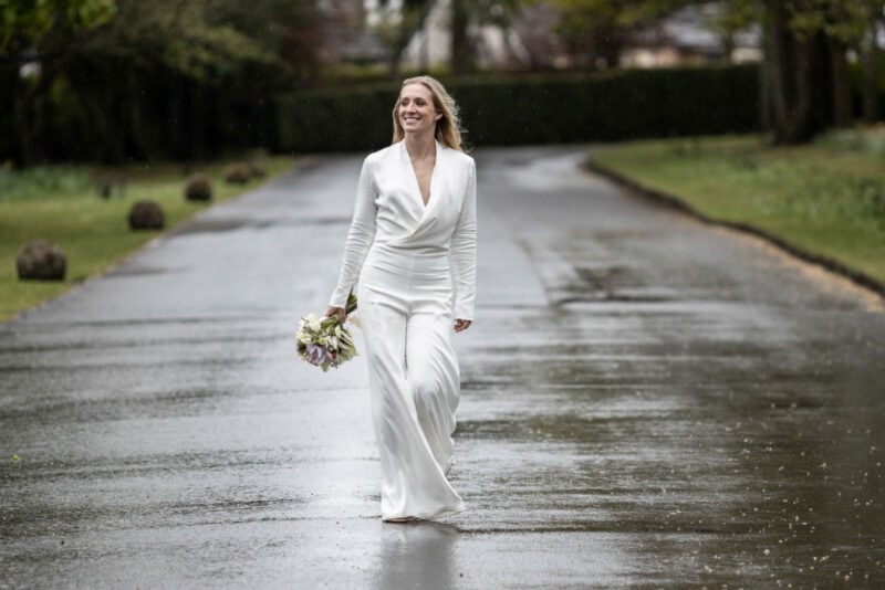
[[(260, 160), (268, 176), (248, 185), (227, 185), (223, 164), (200, 167), (212, 179), (212, 203), (229, 200), (289, 170), (290, 157)], [(125, 178), (125, 192), (102, 199), (95, 178)], [(166, 213), (166, 230), (211, 203), (195, 204), (184, 198), (186, 175), (180, 165), (129, 166), (101, 169), (50, 166), (23, 171), (0, 170), (0, 320), (59, 296), (73, 285), (102, 273), (160, 231), (128, 228), (128, 212), (140, 199), (157, 201)], [(30, 240), (44, 238), (59, 244), (67, 259), (63, 282), (20, 281), (15, 257)]]

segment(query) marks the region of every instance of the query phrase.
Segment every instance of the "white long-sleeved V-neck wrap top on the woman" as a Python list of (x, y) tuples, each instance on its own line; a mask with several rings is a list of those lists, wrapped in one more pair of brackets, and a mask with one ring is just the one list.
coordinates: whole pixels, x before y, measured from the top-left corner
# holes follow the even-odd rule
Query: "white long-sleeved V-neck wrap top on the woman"
[(477, 181), (473, 159), (436, 144), (430, 199), (421, 200), (405, 143), (363, 161), (353, 221), (330, 305), (344, 307), (374, 245), (449, 255), (455, 317), (473, 319), (477, 278)]

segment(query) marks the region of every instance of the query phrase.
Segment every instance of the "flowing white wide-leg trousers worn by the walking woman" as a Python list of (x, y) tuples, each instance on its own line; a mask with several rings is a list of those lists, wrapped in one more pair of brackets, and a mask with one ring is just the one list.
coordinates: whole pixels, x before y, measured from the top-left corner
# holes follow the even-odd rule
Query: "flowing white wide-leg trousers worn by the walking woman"
[(373, 246), (357, 297), (381, 455), (382, 518), (461, 512), (464, 502), (446, 478), (460, 396), (448, 259)]

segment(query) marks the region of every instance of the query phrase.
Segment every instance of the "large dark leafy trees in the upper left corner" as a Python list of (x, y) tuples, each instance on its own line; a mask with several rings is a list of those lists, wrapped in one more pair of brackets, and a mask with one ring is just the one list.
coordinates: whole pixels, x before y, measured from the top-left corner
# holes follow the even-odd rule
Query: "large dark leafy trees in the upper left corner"
[(39, 64), (30, 77), (4, 76), (23, 162), (204, 156), (223, 133), (220, 109), (230, 112), (239, 95), (233, 110), (249, 116), (312, 59), (287, 40), (313, 24), (313, 2), (0, 2), (7, 70)]

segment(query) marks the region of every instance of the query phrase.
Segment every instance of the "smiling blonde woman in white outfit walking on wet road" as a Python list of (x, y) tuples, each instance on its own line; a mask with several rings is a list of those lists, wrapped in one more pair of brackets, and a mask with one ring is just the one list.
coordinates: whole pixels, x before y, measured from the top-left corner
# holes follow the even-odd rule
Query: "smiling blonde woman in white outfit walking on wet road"
[(436, 80), (403, 82), (393, 118), (393, 145), (363, 162), (326, 316), (345, 319), (358, 276), (382, 518), (406, 521), (464, 509), (446, 476), (460, 394), (452, 319), (467, 329), (476, 299), (476, 166)]

